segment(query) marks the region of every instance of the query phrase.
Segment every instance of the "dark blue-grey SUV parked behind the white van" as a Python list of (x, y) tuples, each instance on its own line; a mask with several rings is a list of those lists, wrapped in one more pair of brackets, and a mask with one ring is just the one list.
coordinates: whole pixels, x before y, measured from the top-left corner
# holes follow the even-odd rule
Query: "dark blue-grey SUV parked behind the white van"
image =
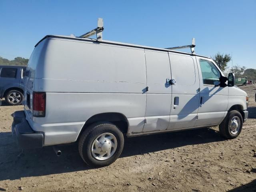
[(24, 66), (0, 66), (0, 99), (10, 105), (22, 103), (25, 71)]

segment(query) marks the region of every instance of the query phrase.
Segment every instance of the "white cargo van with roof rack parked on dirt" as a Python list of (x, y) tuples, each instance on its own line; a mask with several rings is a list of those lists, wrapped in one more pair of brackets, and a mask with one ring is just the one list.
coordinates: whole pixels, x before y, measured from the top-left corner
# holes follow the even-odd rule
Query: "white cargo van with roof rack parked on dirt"
[(124, 135), (217, 125), (225, 138), (240, 134), (246, 92), (193, 43), (185, 53), (105, 41), (103, 27), (95, 30), (97, 39), (48, 35), (36, 44), (12, 124), (21, 148), (78, 142), (84, 162), (100, 167), (120, 156)]

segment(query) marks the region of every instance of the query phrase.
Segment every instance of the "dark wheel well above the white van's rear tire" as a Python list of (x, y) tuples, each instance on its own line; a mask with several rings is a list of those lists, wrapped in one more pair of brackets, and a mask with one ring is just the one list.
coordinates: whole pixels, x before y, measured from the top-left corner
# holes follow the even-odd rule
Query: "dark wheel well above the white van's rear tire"
[(88, 126), (90, 126), (91, 124), (93, 123), (96, 123), (96, 122), (110, 122), (114, 125), (116, 125), (123, 134), (126, 134), (127, 131), (128, 131), (128, 120), (127, 118), (121, 114), (121, 113), (114, 113), (114, 112), (111, 112), (111, 113), (101, 113), (101, 114), (96, 114), (92, 117), (90, 117), (84, 124), (79, 136), (78, 136), (78, 139), (80, 138), (80, 135), (82, 134), (82, 132), (84, 132), (84, 130), (86, 128), (88, 128)]

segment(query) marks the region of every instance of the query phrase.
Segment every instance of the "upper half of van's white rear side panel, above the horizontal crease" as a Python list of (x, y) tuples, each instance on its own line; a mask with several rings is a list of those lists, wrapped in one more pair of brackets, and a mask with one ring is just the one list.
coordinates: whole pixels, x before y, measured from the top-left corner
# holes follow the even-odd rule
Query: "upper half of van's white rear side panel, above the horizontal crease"
[(36, 78), (44, 80), (38, 91), (141, 94), (146, 88), (144, 49), (50, 39)]

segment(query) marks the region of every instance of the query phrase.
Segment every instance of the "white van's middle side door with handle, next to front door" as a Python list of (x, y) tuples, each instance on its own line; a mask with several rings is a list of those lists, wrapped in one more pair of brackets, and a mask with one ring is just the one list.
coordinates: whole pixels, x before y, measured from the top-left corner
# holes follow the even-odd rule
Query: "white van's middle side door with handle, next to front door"
[(195, 56), (169, 53), (172, 70), (172, 107), (168, 130), (194, 127), (199, 104), (199, 77)]

